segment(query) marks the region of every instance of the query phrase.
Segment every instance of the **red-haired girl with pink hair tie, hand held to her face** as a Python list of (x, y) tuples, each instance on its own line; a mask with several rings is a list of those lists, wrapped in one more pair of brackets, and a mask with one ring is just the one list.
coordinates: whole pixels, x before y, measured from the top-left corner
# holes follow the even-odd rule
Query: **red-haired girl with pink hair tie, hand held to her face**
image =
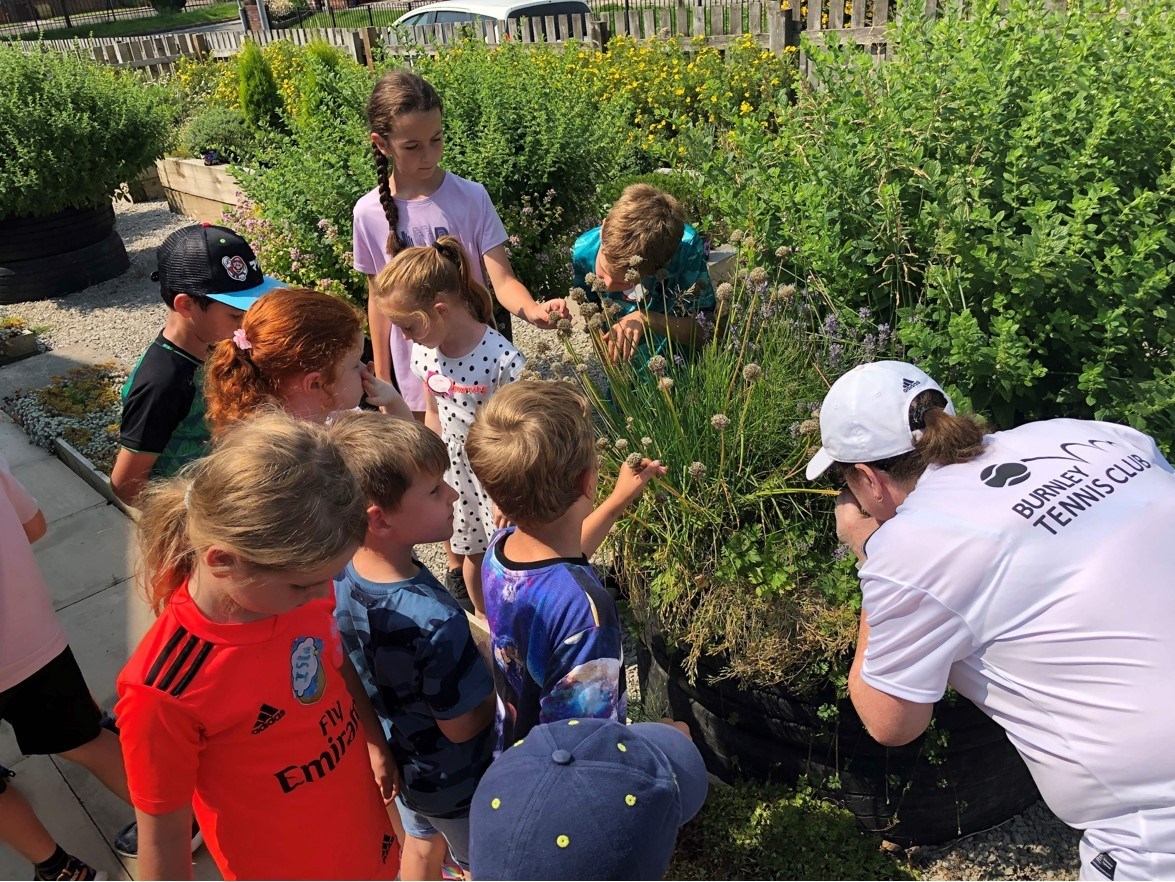
[(231, 338), (204, 368), (206, 418), (215, 437), (260, 409), (280, 408), (324, 423), (334, 411), (368, 402), (411, 418), (389, 383), (363, 362), (358, 310), (306, 288), (277, 290), (254, 303)]

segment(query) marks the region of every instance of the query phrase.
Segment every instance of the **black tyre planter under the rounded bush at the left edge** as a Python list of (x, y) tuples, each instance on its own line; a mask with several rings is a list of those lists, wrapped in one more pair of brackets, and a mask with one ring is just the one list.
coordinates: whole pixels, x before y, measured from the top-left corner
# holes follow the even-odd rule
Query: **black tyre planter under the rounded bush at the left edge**
[(129, 265), (110, 204), (0, 221), (0, 303), (80, 291)]

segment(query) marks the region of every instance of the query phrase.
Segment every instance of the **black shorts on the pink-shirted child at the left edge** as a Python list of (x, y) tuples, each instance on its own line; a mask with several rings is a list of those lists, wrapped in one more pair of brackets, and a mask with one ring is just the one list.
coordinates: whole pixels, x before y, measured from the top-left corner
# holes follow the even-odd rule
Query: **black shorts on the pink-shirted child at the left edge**
[(101, 719), (68, 646), (35, 674), (0, 692), (0, 720), (16, 730), (22, 754), (60, 754), (88, 745), (101, 733)]

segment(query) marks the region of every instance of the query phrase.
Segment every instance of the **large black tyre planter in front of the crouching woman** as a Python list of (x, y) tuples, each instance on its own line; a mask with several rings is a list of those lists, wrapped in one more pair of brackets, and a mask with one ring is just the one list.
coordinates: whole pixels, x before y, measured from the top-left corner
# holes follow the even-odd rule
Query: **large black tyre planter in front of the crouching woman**
[[(711, 686), (714, 664), (690, 682), (664, 644), (638, 649), (642, 694), (664, 691), (669, 713), (690, 725), (706, 767), (785, 785), (806, 781), (851, 810), (860, 826), (899, 844), (938, 844), (987, 829), (1040, 799), (999, 725), (962, 696), (935, 706), (935, 730), (900, 748), (878, 745), (847, 700), (798, 698), (783, 688)], [(647, 693), (645, 691), (649, 691)], [(828, 714), (830, 707), (835, 714)], [(826, 718), (830, 718), (826, 720)]]

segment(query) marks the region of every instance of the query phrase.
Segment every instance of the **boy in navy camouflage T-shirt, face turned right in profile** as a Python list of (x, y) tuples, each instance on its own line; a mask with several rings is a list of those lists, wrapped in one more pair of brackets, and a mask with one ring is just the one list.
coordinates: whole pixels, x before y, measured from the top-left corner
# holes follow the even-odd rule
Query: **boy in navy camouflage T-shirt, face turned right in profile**
[(469, 806), (492, 756), (494, 681), (465, 612), (412, 557), (452, 533), (444, 443), (416, 422), (352, 412), (331, 435), (368, 498), (363, 545), (335, 580), (338, 633), (400, 763), (403, 878), (469, 869)]

